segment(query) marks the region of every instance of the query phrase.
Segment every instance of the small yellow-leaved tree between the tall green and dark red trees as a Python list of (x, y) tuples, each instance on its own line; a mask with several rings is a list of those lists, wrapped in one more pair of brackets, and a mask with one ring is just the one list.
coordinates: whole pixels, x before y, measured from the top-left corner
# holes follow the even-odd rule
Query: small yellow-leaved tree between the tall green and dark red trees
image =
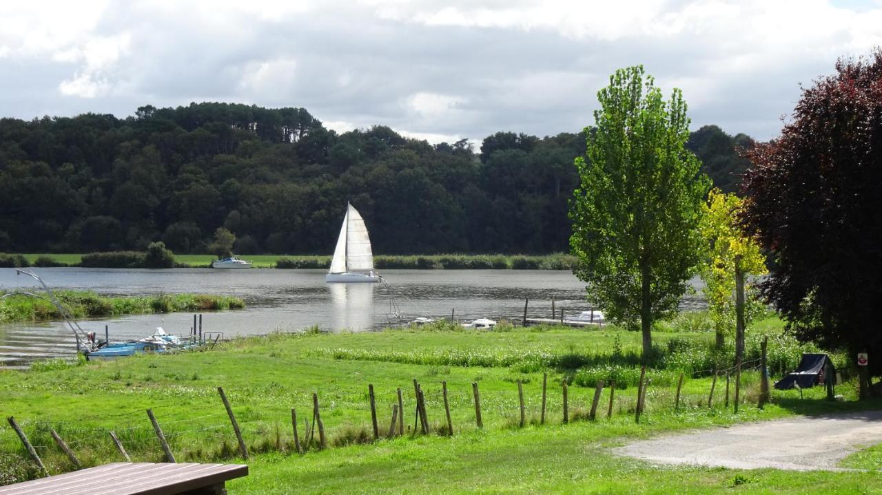
[[(737, 225), (736, 215), (742, 203), (734, 194), (712, 189), (699, 225), (706, 249), (699, 271), (705, 281), (705, 298), (714, 320), (718, 348), (722, 347), (724, 336), (736, 329), (736, 277), (766, 273), (766, 256), (759, 251), (756, 241), (745, 236)], [(745, 295), (744, 324), (749, 324), (762, 312), (763, 304), (757, 287), (750, 282), (746, 284)], [(743, 338), (738, 338), (736, 348), (744, 350)]]

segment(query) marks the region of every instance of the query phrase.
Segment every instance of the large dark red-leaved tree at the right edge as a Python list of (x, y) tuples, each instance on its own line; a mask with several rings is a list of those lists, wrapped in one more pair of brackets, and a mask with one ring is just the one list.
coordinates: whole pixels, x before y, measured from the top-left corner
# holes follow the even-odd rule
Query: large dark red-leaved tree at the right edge
[[(882, 49), (841, 59), (781, 137), (748, 152), (744, 224), (769, 252), (766, 298), (804, 341), (882, 370)], [(852, 361), (853, 362), (853, 361)]]

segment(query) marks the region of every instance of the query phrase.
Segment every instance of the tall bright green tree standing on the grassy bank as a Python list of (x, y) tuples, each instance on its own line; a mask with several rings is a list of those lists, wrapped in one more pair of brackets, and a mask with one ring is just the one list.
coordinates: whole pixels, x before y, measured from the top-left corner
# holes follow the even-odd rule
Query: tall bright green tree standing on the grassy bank
[(676, 312), (700, 260), (698, 229), (709, 180), (684, 148), (689, 119), (683, 94), (668, 101), (642, 66), (617, 70), (597, 93), (596, 129), (576, 159), (571, 203), (576, 275), (612, 321), (643, 333)]

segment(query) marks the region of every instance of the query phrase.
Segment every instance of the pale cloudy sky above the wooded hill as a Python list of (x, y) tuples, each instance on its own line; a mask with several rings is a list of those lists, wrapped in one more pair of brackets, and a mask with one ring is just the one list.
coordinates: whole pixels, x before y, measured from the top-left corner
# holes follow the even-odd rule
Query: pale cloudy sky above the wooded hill
[(436, 143), (593, 123), (642, 63), (693, 128), (774, 137), (800, 84), (882, 45), (882, 0), (206, 0), (0, 4), (0, 116), (228, 101)]

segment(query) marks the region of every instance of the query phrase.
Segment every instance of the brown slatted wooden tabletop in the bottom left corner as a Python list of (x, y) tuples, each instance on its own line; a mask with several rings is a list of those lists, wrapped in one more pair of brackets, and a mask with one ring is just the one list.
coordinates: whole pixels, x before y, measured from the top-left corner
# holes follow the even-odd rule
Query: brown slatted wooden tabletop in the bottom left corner
[(224, 483), (244, 476), (243, 464), (114, 462), (0, 486), (0, 495), (225, 495)]

